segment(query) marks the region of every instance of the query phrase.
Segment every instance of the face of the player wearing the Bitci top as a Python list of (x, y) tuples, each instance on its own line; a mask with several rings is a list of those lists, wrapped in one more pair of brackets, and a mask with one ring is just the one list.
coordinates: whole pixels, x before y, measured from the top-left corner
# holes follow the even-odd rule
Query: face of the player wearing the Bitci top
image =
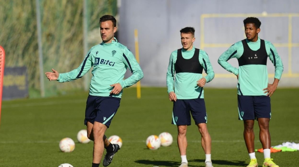
[(110, 43), (113, 40), (114, 33), (116, 32), (116, 27), (113, 27), (111, 20), (100, 23), (101, 38), (103, 42)]

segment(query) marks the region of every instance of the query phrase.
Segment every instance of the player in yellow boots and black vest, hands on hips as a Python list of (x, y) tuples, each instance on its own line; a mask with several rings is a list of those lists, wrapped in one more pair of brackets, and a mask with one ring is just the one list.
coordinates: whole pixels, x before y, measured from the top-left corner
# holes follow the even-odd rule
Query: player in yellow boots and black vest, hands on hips
[[(243, 22), (246, 39), (228, 48), (219, 57), (218, 63), (227, 71), (234, 73), (238, 79), (239, 119), (244, 122), (243, 135), (251, 159), (247, 167), (257, 166), (253, 131), (255, 119), (257, 119), (260, 127), (260, 142), (264, 150), (263, 167), (278, 167), (270, 157), (270, 96), (277, 88), (283, 72), (283, 64), (271, 42), (259, 38), (260, 20), (255, 17), (248, 17)], [(268, 83), (268, 57), (275, 66), (274, 82), (272, 84)], [(227, 62), (231, 58), (238, 59), (239, 69)]]

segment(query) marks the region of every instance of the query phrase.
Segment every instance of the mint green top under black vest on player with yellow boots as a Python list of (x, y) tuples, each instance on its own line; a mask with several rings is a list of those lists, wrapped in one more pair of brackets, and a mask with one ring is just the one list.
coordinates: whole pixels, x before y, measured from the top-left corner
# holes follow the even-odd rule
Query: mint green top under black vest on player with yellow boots
[[(261, 46), (261, 40), (258, 38), (257, 42), (246, 43), (251, 50), (258, 50)], [(265, 40), (265, 47), (267, 56), (275, 66), (274, 78), (280, 79), (283, 73), (283, 63), (277, 53), (276, 48), (271, 42)], [(267, 95), (263, 89), (268, 87), (268, 70), (266, 65), (250, 64), (242, 65), (239, 68), (233, 67), (227, 61), (231, 58), (239, 59), (244, 52), (242, 41), (239, 41), (226, 50), (218, 59), (218, 63), (225, 68), (225, 70), (239, 74), (238, 79), (238, 95), (244, 96), (263, 96)], [(241, 90), (241, 91), (240, 91)], [(241, 94), (242, 92), (242, 94)]]

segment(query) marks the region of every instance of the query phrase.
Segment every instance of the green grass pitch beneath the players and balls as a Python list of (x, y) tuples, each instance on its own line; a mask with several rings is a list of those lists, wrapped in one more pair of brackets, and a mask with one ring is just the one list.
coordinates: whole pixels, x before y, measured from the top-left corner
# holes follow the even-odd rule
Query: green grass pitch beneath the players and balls
[[(176, 167), (181, 158), (176, 143), (177, 128), (171, 125), (172, 102), (166, 88), (142, 88), (141, 99), (136, 89), (124, 90), (120, 108), (106, 136), (118, 135), (123, 140), (113, 166)], [(299, 143), (299, 89), (278, 88), (271, 97), (271, 145), (286, 141)], [(4, 101), (0, 125), (0, 166), (57, 167), (70, 163), (74, 167), (89, 167), (92, 163), (93, 142), (77, 142), (77, 132), (83, 125), (87, 92), (69, 93), (44, 99)], [(246, 166), (249, 156), (243, 141), (243, 122), (238, 120), (236, 89), (205, 89), (208, 130), (212, 137), (214, 167)], [(149, 135), (170, 132), (174, 142), (158, 150), (146, 148)], [(261, 148), (258, 124), (255, 122), (255, 148)], [(62, 153), (59, 141), (71, 137), (76, 148)], [(204, 166), (205, 154), (200, 134), (192, 121), (187, 128), (188, 166)], [(104, 153), (105, 154), (105, 153)], [(258, 163), (263, 154), (256, 152)], [(280, 166), (299, 166), (299, 151), (272, 153)], [(102, 166), (102, 165), (101, 165)]]

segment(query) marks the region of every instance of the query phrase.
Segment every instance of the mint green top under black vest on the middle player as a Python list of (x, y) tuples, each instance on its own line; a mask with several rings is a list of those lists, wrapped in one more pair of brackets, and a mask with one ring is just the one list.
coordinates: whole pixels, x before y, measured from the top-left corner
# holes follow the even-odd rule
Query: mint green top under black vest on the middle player
[[(191, 50), (182, 50), (182, 56), (184, 59), (191, 59), (195, 52), (195, 47)], [(167, 92), (175, 92), (177, 99), (197, 99), (204, 98), (204, 90), (202, 87), (198, 87), (197, 81), (202, 78), (201, 73), (176, 73), (175, 64), (177, 60), (177, 52), (175, 50), (171, 53), (169, 59), (168, 70), (166, 74)], [(199, 63), (208, 74), (205, 76), (207, 82), (210, 82), (214, 78), (214, 71), (210, 63), (208, 54), (204, 50), (199, 50)], [(175, 80), (174, 80), (175, 78)], [(201, 96), (199, 97), (199, 95)]]

